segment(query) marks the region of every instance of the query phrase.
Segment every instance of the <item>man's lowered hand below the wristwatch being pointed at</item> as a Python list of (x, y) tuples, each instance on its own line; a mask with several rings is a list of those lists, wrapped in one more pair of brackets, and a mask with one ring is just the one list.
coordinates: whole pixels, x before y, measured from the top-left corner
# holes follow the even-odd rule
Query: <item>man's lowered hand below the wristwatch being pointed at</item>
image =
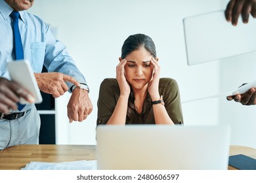
[(75, 88), (68, 102), (68, 118), (70, 119), (70, 123), (73, 120), (82, 122), (91, 114), (92, 110), (93, 105), (87, 90)]

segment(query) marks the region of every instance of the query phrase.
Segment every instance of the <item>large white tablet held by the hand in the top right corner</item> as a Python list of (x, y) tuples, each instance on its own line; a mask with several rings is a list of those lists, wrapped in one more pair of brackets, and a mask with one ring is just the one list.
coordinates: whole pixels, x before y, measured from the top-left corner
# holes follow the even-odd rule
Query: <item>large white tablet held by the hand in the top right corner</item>
[[(251, 15), (250, 15), (251, 16)], [(256, 20), (226, 22), (224, 10), (184, 18), (188, 65), (238, 56), (256, 50)]]

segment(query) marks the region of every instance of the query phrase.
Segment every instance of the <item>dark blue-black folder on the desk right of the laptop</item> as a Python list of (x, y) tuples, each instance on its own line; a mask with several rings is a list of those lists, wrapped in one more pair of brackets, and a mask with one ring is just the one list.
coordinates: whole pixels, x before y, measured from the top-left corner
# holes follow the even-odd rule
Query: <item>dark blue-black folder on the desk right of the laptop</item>
[(256, 159), (238, 154), (229, 157), (228, 165), (240, 170), (256, 170)]

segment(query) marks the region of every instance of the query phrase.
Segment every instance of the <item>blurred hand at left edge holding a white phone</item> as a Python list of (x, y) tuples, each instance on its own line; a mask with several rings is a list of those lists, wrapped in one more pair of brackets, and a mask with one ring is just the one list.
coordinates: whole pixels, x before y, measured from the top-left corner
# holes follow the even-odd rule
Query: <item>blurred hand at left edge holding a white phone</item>
[(9, 112), (10, 109), (16, 110), (20, 97), (30, 103), (35, 102), (32, 94), (22, 88), (20, 84), (6, 78), (0, 78), (0, 112)]

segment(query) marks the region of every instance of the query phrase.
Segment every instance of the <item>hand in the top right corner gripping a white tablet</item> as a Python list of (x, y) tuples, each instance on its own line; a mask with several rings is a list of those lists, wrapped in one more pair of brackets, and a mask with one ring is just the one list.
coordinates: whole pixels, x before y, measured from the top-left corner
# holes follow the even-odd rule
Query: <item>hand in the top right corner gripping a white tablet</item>
[(226, 20), (237, 25), (240, 14), (245, 24), (249, 21), (249, 14), (256, 18), (256, 0), (230, 0), (225, 10)]

